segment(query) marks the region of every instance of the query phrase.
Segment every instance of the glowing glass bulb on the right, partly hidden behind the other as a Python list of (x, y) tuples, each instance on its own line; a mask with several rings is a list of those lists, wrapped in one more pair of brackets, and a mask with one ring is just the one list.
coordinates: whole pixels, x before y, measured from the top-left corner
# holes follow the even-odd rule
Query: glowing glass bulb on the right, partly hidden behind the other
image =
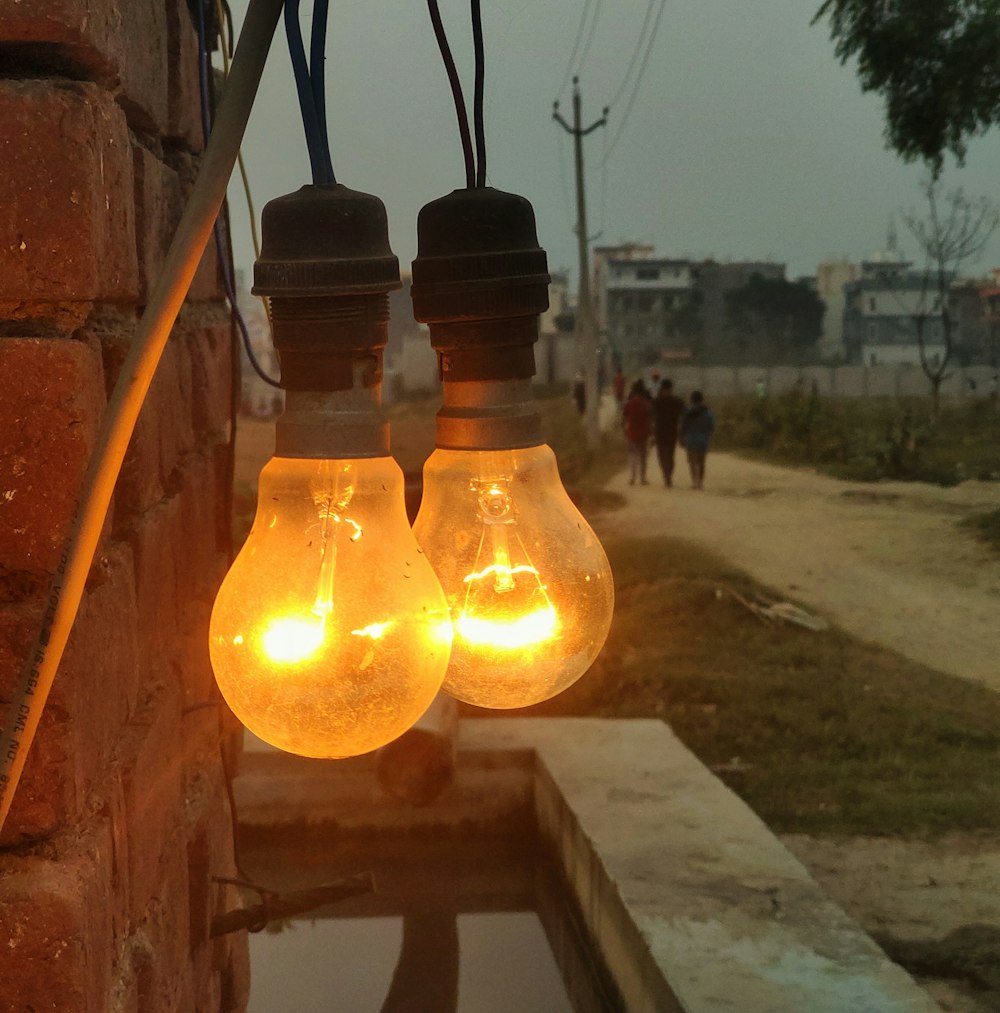
[(525, 707), (590, 668), (611, 627), (611, 566), (548, 447), (435, 451), (413, 532), (451, 609), (446, 692)]

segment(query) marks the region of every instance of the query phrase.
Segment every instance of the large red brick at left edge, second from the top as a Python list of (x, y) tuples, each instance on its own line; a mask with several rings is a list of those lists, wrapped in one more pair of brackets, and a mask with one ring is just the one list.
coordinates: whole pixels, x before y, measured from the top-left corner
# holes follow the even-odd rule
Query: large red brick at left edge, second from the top
[(125, 114), (82, 82), (0, 82), (0, 277), (9, 300), (134, 299)]

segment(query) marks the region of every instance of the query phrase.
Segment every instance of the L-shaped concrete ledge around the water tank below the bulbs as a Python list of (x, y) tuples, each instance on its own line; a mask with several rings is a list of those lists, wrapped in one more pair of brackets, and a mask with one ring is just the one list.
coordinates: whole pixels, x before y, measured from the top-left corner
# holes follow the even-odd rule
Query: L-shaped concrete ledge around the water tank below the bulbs
[(533, 806), (630, 1013), (935, 1013), (765, 825), (660, 721), (465, 720), (432, 805), (369, 758), (246, 758), (241, 823), (495, 829)]

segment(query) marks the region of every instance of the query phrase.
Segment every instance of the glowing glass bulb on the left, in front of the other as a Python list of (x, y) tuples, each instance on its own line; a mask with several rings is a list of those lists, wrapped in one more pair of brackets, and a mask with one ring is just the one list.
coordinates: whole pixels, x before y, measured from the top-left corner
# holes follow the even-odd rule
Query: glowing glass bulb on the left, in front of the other
[(367, 753), (428, 708), (450, 641), (395, 461), (272, 458), (210, 626), (236, 716), (290, 753)]

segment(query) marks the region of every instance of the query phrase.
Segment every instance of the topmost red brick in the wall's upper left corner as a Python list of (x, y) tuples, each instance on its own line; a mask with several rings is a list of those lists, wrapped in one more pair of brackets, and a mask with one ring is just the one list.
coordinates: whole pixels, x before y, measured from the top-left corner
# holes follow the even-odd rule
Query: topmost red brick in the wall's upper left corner
[(145, 129), (167, 119), (166, 35), (157, 0), (0, 0), (0, 42), (19, 44), (22, 63), (76, 69), (116, 88)]

